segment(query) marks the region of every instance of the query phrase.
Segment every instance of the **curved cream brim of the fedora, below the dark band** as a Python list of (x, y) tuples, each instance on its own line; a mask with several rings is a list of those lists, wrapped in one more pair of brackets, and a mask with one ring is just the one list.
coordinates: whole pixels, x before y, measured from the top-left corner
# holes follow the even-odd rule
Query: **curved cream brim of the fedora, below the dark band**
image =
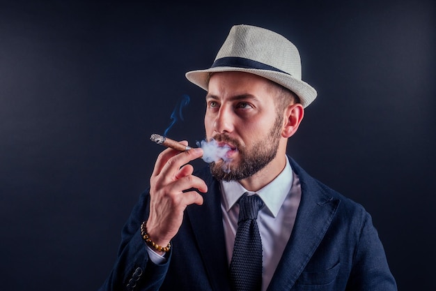
[(272, 82), (281, 84), (281, 86), (293, 91), (299, 97), (300, 103), (303, 107), (307, 107), (315, 100), (317, 92), (316, 89), (311, 87), (302, 80), (298, 80), (295, 77), (286, 73), (275, 72), (273, 70), (260, 70), (254, 68), (236, 68), (236, 67), (215, 67), (208, 68), (206, 70), (192, 70), (185, 74), (187, 80), (196, 84), (198, 87), (208, 91), (208, 84), (210, 79), (210, 73), (217, 72), (246, 72), (260, 77), (265, 77)]

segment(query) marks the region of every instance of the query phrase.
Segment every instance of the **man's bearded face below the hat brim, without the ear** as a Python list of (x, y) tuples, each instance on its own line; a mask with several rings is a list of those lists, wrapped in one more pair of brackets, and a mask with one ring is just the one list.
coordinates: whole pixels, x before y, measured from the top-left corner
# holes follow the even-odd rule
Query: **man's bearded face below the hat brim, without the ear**
[(214, 73), (210, 77), (206, 137), (231, 148), (226, 154), (228, 162), (210, 164), (217, 179), (246, 179), (275, 158), (283, 117), (277, 114), (273, 92), (269, 81), (249, 73)]

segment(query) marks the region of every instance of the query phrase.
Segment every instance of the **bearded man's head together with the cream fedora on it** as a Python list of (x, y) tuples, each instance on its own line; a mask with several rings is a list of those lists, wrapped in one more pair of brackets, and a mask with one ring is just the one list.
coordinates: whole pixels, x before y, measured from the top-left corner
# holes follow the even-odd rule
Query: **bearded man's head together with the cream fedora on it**
[(236, 25), (211, 68), (186, 77), (208, 91), (206, 137), (231, 148), (231, 162), (212, 163), (215, 177), (240, 181), (260, 173), (274, 179), (303, 108), (316, 98), (302, 81), (297, 47), (273, 31)]

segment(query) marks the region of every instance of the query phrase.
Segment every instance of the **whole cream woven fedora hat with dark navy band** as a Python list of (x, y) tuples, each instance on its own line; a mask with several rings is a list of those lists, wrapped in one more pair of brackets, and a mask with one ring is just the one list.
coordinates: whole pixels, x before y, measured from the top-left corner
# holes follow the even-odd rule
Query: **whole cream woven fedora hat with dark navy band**
[(297, 47), (279, 33), (240, 24), (231, 28), (212, 66), (186, 73), (187, 80), (208, 91), (211, 73), (238, 71), (265, 77), (290, 89), (303, 107), (316, 98), (316, 90), (302, 81)]

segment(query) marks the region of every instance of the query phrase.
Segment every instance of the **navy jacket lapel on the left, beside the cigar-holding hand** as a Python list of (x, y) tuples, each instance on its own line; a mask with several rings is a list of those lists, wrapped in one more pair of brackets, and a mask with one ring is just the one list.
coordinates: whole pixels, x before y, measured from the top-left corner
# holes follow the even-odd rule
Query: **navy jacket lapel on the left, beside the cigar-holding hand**
[[(208, 185), (208, 193), (203, 194), (203, 205), (190, 205), (187, 208), (203, 263), (208, 272), (213, 290), (230, 290), (226, 244), (221, 214), (221, 193), (219, 183), (212, 178), (208, 167), (204, 175), (198, 175)], [(187, 266), (189, 267), (189, 266)]]

